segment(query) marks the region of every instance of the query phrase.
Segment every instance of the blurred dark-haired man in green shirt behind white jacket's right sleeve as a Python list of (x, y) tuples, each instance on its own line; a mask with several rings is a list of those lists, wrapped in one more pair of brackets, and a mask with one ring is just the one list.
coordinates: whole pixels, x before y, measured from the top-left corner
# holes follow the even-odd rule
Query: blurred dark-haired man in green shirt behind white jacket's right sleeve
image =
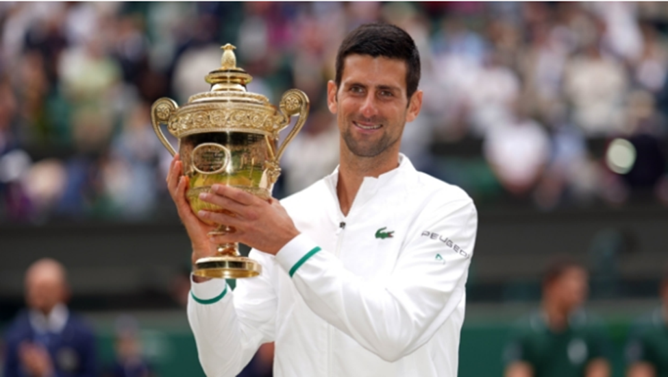
[(608, 343), (581, 306), (587, 272), (561, 260), (543, 278), (543, 303), (523, 319), (506, 347), (506, 377), (607, 377)]

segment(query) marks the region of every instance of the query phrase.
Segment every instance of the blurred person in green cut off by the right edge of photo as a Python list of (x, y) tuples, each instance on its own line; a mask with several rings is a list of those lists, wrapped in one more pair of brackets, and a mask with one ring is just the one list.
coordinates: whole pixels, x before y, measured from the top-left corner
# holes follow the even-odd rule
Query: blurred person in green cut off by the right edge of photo
[(628, 377), (668, 377), (668, 273), (660, 296), (662, 306), (632, 330), (626, 347)]

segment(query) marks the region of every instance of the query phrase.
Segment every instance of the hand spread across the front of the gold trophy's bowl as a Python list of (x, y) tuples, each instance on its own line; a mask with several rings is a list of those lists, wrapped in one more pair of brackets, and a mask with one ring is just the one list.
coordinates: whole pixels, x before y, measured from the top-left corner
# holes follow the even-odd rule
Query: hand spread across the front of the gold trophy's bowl
[(212, 237), (213, 243), (241, 242), (276, 255), (288, 241), (299, 234), (288, 212), (274, 198), (263, 200), (222, 184), (214, 184), (211, 193), (202, 193), (199, 198), (231, 212), (201, 210), (197, 214), (202, 219), (232, 226), (236, 230), (225, 236)]

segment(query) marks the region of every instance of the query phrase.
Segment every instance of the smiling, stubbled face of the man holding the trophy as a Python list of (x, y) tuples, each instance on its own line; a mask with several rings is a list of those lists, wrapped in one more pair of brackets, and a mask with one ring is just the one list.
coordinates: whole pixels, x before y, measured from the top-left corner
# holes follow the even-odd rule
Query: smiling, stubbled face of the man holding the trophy
[(327, 84), (327, 105), (355, 156), (399, 153), (404, 125), (422, 104), (419, 90), (406, 98), (406, 69), (401, 60), (354, 54), (345, 58), (341, 85)]

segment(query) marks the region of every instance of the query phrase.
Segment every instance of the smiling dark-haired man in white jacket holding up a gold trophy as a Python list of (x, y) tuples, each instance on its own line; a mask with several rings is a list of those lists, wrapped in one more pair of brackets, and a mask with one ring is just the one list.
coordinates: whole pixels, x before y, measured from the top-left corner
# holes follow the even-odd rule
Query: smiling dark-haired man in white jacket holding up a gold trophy
[(212, 228), (186, 203), (176, 158), (169, 191), (193, 263), (242, 242), (257, 278), (194, 277), (188, 319), (208, 376), (234, 376), (275, 341), (275, 376), (457, 376), (477, 213), (461, 189), (415, 171), (401, 132), (422, 104), (419, 54), (398, 27), (362, 25), (338, 50), (327, 104), (341, 133), (338, 169), (282, 201), (214, 185), (202, 199), (234, 216)]

